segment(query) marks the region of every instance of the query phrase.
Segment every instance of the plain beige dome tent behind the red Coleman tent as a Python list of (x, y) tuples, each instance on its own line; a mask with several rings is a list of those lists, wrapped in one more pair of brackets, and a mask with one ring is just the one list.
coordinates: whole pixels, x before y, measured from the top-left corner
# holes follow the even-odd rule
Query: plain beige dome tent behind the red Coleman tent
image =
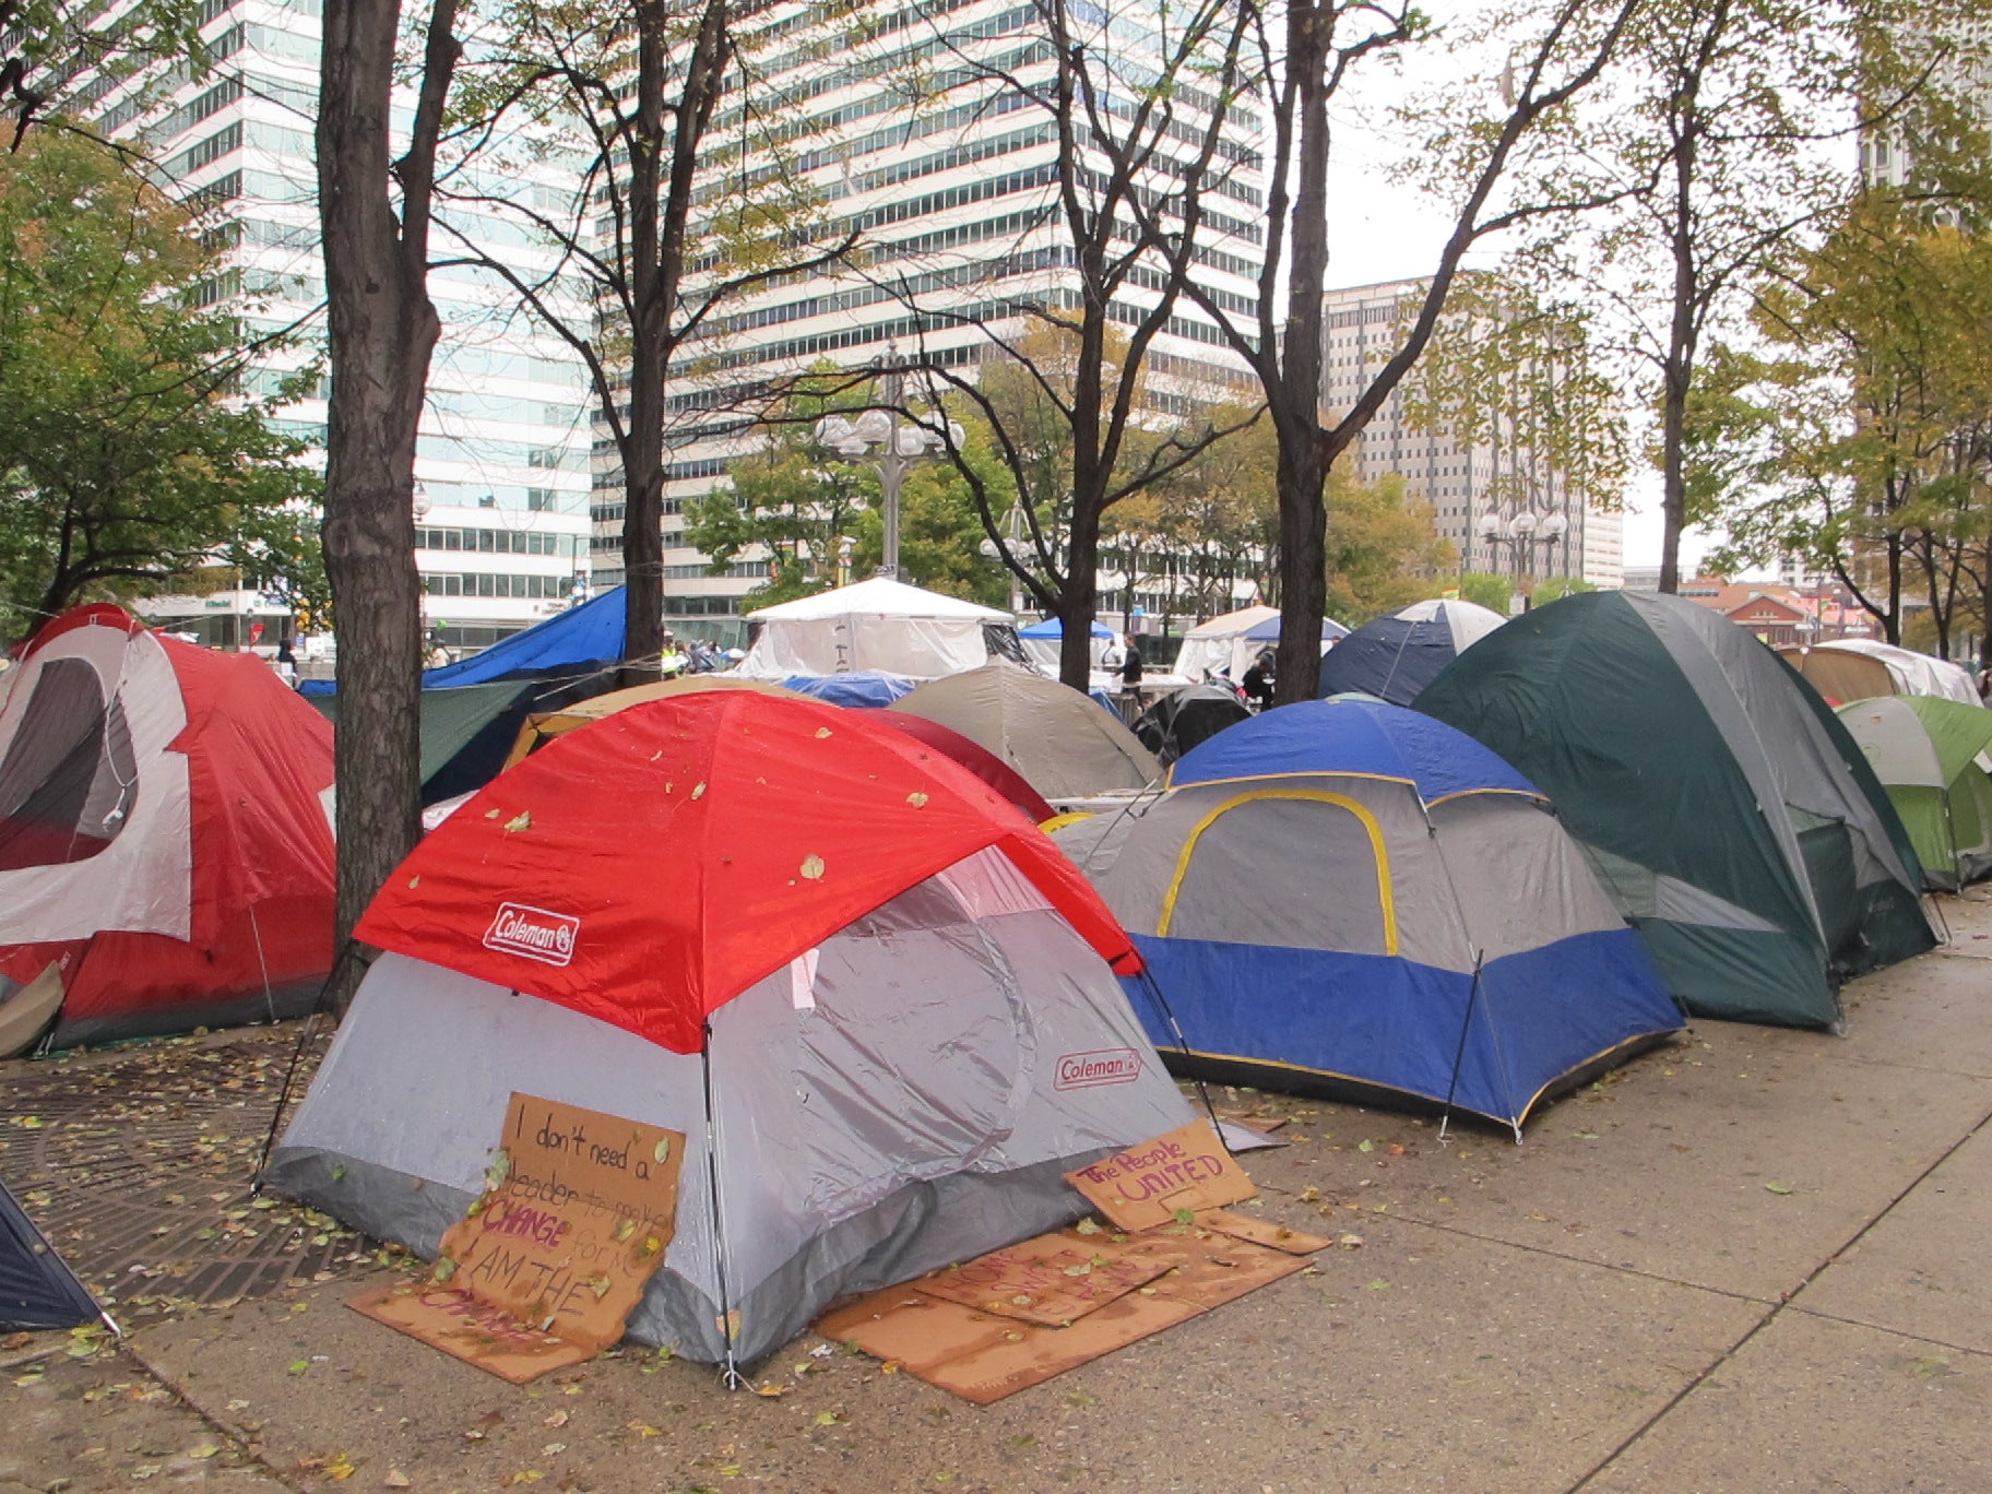
[(1161, 765), (1100, 701), (1008, 663), (920, 685), (892, 703), (952, 727), (1046, 799), (1141, 789)]

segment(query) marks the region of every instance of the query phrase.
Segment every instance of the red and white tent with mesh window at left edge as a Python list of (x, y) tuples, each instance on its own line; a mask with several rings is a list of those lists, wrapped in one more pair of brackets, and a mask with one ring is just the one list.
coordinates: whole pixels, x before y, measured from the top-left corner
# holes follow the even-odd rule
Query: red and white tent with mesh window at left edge
[(271, 667), (90, 606), (0, 705), (0, 1052), (311, 1004), (333, 952), (331, 727)]

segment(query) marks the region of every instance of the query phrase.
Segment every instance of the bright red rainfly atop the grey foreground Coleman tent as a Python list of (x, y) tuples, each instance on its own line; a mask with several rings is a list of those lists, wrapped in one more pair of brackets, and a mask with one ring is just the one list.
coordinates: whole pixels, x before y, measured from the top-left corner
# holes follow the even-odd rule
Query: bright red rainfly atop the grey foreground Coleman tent
[(869, 713), (735, 689), (635, 705), (500, 775), (357, 934), (695, 1054), (705, 1018), (797, 950), (982, 849), (1141, 968), (986, 783)]

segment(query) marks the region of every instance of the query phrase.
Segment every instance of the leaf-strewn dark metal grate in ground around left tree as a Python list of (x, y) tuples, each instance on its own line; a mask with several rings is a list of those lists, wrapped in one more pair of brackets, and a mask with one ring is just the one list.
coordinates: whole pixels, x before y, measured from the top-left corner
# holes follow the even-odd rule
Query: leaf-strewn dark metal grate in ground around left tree
[[(363, 1241), (249, 1183), (295, 1022), (0, 1064), (0, 1179), (120, 1319), (267, 1297)], [(325, 1024), (291, 1084), (311, 1082)]]

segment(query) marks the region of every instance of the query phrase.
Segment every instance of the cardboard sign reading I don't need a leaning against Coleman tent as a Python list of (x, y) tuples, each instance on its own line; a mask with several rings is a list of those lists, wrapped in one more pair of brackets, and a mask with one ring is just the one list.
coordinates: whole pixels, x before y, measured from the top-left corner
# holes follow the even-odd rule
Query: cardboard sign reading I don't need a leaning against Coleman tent
[(683, 1153), (679, 1131), (514, 1094), (490, 1187), (442, 1235), (430, 1277), (464, 1297), (367, 1293), (353, 1307), (514, 1382), (592, 1359), (663, 1261)]

